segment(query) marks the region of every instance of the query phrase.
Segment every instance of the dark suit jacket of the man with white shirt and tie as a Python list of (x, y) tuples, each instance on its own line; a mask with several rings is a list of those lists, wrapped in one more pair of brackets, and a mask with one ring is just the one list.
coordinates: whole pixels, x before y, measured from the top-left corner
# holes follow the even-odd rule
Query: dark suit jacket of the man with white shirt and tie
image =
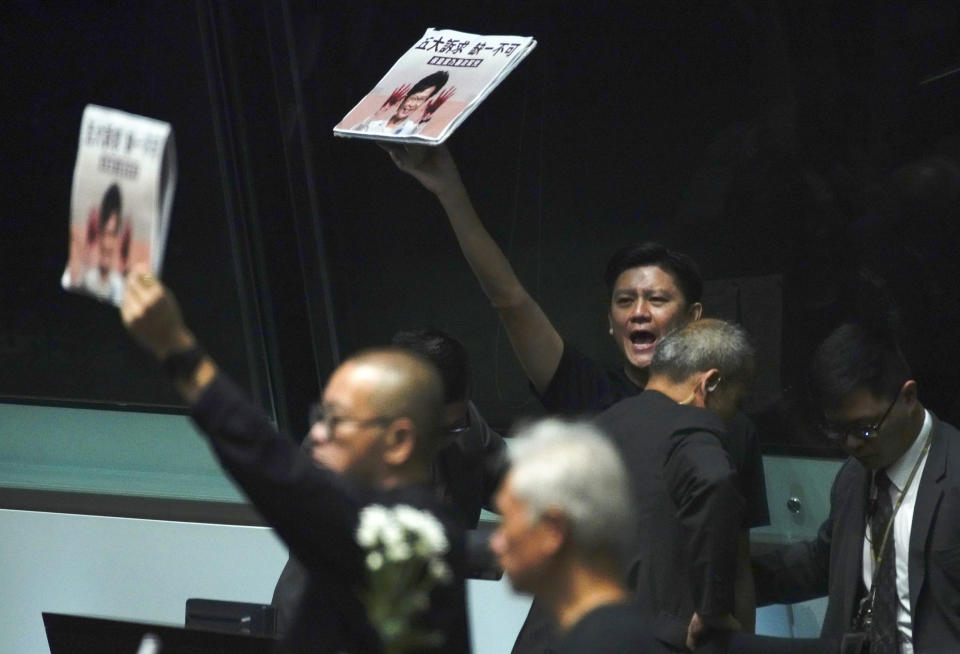
[[(960, 652), (960, 432), (934, 418), (910, 531), (910, 608), (919, 653)], [(916, 483), (916, 482), (915, 482)], [(847, 631), (862, 595), (870, 472), (848, 459), (833, 482), (830, 516), (809, 542), (755, 556), (760, 604), (829, 595), (821, 636)]]

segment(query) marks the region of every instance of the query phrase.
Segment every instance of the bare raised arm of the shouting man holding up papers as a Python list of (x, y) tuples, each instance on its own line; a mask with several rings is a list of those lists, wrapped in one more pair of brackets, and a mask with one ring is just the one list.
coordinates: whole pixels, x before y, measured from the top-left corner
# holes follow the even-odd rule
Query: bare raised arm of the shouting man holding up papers
[(517, 279), (503, 251), (487, 232), (450, 151), (445, 146), (384, 145), (397, 167), (437, 196), (457, 243), (507, 330), (527, 378), (543, 393), (563, 354), (563, 339)]

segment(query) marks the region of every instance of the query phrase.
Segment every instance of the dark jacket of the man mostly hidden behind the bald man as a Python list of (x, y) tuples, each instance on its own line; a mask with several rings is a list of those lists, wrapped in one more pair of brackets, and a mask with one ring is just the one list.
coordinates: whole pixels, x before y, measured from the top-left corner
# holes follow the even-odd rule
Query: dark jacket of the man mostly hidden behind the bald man
[[(480, 520), (480, 509), (491, 507), (491, 498), (508, 462), (506, 443), (487, 425), (473, 402), (467, 403), (467, 412), (470, 428), (456, 434), (437, 453), (434, 480), (463, 527), (473, 529)], [(271, 600), (277, 611), (278, 633), (290, 629), (308, 578), (307, 569), (291, 555), (280, 572)]]

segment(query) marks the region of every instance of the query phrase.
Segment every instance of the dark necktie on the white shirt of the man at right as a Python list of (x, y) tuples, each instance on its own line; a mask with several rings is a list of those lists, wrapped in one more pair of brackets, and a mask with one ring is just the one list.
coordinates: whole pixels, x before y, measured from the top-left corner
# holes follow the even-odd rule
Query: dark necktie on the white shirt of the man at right
[(871, 550), (874, 556), (882, 556), (879, 569), (875, 572), (876, 593), (873, 600), (873, 620), (870, 627), (870, 654), (898, 654), (900, 640), (897, 630), (897, 556), (894, 546), (893, 529), (880, 552), (883, 535), (887, 531), (890, 517), (893, 515), (893, 501), (890, 499), (890, 478), (886, 473), (876, 474), (877, 504), (870, 520)]

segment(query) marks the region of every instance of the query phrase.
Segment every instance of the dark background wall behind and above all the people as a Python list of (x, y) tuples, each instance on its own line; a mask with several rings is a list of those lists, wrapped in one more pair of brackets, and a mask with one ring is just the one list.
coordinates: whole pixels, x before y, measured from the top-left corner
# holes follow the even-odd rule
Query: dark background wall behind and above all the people
[[(173, 124), (165, 281), (282, 427), (302, 433), (303, 408), (344, 355), (425, 325), (467, 345), (493, 424), (536, 412), (434, 198), (375, 145), (331, 133), (433, 26), (538, 40), (449, 145), (569, 343), (616, 363), (603, 265), (660, 239), (725, 280), (708, 312), (761, 342), (772, 372), (752, 409), (768, 450), (826, 451), (796, 421), (801, 371), (850, 317), (899, 330), (921, 397), (960, 419), (955, 3), (198, 0), (0, 13), (8, 400), (176, 410), (115, 312), (59, 289), (79, 120), (94, 102)], [(757, 278), (777, 301), (745, 290)]]

